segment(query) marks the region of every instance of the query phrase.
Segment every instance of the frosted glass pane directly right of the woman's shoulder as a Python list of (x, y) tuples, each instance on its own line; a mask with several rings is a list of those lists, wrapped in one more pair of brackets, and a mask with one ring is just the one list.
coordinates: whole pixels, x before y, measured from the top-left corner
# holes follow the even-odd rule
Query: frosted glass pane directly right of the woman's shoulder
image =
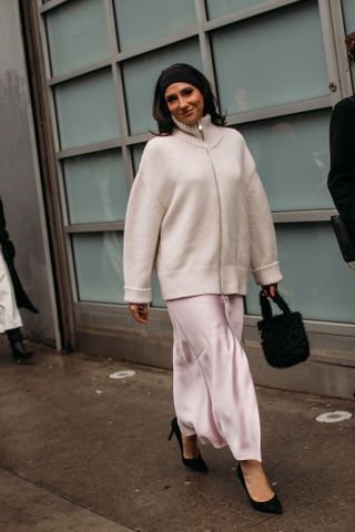
[(256, 162), (272, 211), (333, 208), (329, 111), (237, 126)]

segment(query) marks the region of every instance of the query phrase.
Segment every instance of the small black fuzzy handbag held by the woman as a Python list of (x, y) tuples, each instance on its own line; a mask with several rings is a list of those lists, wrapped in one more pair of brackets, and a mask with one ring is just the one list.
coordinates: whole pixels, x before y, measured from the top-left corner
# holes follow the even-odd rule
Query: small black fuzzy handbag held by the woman
[(260, 294), (263, 319), (257, 323), (262, 348), (270, 366), (290, 368), (310, 356), (310, 342), (300, 313), (292, 313), (276, 293), (272, 300), (283, 314), (273, 316), (268, 297)]

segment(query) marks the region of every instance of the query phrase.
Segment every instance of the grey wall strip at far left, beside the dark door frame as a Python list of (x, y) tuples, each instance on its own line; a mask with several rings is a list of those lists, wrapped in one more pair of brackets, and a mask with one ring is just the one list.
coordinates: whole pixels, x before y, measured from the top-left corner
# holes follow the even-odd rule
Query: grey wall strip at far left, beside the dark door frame
[(0, 195), (22, 284), (40, 310), (24, 335), (59, 347), (28, 79), (16, 0), (0, 2)]

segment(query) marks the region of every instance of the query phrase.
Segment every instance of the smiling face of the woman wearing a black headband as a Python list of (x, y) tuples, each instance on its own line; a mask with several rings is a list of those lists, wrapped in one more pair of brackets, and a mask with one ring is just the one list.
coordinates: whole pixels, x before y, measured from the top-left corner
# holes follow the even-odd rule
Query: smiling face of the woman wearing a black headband
[(201, 91), (190, 83), (172, 83), (168, 86), (165, 102), (171, 115), (186, 125), (203, 116), (204, 100)]

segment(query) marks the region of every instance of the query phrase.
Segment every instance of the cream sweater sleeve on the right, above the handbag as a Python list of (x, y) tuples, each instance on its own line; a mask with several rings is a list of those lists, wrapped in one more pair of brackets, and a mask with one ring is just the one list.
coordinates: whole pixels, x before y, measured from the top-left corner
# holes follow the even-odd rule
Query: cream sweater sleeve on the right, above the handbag
[(258, 285), (271, 285), (282, 279), (277, 259), (274, 223), (264, 187), (245, 142), (243, 163), (247, 174), (251, 269)]

